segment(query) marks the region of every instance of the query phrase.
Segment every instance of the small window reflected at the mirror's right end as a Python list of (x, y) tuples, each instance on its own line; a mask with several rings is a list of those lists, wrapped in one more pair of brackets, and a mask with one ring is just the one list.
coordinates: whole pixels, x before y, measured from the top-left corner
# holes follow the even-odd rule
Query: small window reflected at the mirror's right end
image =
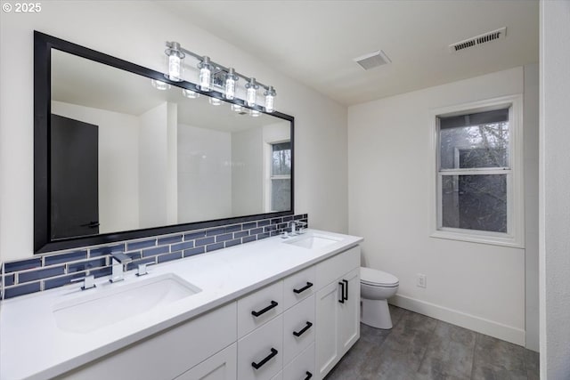
[(291, 209), (291, 141), (271, 144), (271, 211)]

